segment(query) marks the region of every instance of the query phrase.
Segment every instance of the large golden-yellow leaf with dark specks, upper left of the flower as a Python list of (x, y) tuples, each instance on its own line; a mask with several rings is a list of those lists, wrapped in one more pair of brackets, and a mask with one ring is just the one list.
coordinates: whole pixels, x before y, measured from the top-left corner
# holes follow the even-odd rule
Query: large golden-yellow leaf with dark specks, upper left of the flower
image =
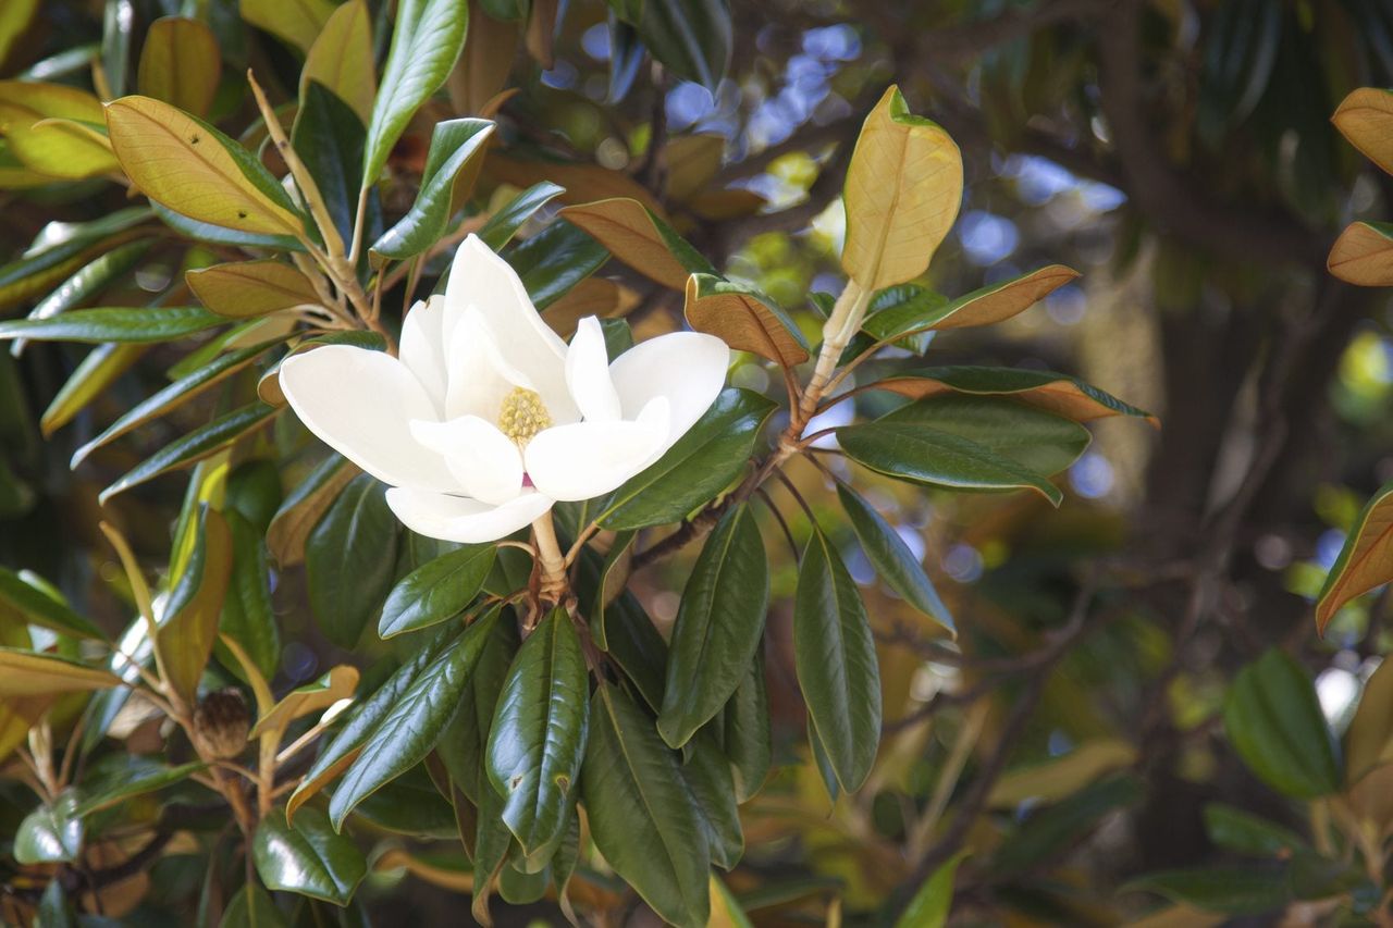
[(272, 235), (304, 224), (276, 178), (210, 125), (148, 96), (106, 106), (111, 148), (142, 194), (189, 219)]

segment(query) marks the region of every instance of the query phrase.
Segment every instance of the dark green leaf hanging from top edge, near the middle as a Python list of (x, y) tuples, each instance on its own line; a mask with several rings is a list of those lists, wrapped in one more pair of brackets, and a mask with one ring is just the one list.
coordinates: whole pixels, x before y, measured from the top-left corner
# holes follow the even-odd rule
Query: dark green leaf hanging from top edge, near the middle
[(644, 0), (638, 36), (680, 78), (716, 92), (730, 67), (730, 8), (724, 0)]

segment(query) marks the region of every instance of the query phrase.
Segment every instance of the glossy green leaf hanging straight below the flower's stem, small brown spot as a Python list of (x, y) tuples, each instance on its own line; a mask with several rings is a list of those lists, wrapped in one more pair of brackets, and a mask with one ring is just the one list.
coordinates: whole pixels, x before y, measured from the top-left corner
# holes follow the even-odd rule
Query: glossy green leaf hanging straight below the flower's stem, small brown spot
[(489, 730), (489, 782), (527, 853), (566, 828), (585, 755), (588, 681), (575, 626), (553, 609), (518, 649)]

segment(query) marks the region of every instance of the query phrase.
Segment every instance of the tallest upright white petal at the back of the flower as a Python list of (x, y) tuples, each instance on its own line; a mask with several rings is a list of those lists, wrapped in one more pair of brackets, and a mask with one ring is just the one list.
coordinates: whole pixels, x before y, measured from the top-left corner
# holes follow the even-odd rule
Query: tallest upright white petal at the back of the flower
[(570, 408), (566, 343), (542, 322), (511, 265), (478, 235), (465, 238), (454, 254), (444, 294), (451, 307), (479, 316), (499, 354), (528, 379), (528, 389), (536, 390), (547, 407)]

